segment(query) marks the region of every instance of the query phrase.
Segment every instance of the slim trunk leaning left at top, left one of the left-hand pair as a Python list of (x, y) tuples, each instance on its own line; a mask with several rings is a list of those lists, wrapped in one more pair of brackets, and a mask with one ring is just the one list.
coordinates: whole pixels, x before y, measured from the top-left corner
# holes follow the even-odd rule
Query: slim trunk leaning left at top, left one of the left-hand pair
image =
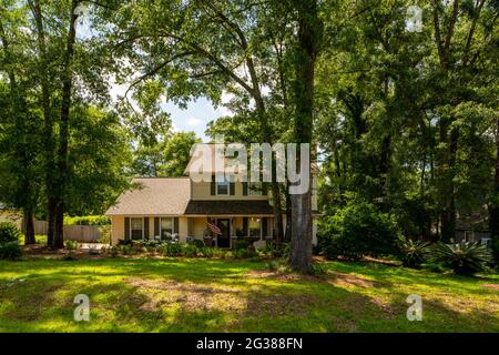
[(57, 196), (54, 196), (54, 136), (53, 136), (53, 121), (50, 112), (50, 82), (49, 69), (45, 45), (45, 32), (43, 24), (43, 16), (40, 7), (40, 0), (29, 1), (31, 11), (33, 13), (37, 27), (37, 41), (39, 50), (39, 77), (42, 88), (42, 106), (43, 106), (43, 135), (44, 135), (44, 169), (45, 169), (45, 189), (47, 189), (47, 211), (49, 220), (48, 229), (48, 245), (54, 244), (54, 221), (55, 221), (55, 205)]

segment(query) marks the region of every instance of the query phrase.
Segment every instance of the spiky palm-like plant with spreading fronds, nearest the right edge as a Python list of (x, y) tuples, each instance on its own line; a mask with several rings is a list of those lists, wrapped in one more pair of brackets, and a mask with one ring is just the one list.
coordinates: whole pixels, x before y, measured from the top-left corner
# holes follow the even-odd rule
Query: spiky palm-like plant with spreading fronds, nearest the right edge
[(492, 262), (492, 253), (479, 242), (437, 243), (429, 248), (428, 261), (441, 263), (452, 268), (456, 274), (472, 274), (482, 271)]

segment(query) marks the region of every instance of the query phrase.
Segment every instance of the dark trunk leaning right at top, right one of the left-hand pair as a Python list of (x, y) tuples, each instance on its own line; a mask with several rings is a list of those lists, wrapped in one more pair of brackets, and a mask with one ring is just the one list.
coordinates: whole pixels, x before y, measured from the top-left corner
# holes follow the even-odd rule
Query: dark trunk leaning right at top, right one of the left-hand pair
[(54, 221), (54, 237), (53, 246), (60, 248), (64, 246), (64, 200), (65, 186), (68, 183), (68, 142), (69, 142), (69, 116), (71, 108), (71, 87), (72, 72), (71, 62), (73, 59), (73, 45), (77, 39), (77, 19), (75, 9), (79, 0), (73, 0), (71, 3), (71, 20), (68, 33), (67, 48), (64, 52), (64, 69), (62, 74), (62, 100), (61, 100), (61, 122), (59, 125), (59, 150), (57, 160), (58, 172), (58, 193), (55, 199), (55, 221)]

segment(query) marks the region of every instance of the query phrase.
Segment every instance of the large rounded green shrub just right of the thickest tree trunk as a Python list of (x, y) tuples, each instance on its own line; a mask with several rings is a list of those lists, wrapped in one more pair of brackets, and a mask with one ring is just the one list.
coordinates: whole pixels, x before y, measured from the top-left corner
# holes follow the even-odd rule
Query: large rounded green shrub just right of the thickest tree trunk
[(320, 253), (330, 258), (359, 260), (396, 254), (400, 232), (394, 219), (366, 202), (350, 202), (319, 224)]

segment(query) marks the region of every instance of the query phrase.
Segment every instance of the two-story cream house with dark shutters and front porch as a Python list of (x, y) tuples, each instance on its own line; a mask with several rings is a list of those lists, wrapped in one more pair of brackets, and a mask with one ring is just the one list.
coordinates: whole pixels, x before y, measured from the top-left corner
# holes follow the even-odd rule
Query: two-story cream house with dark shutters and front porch
[[(312, 180), (314, 244), (318, 217), (316, 173), (315, 168)], [(273, 239), (272, 200), (258, 183), (215, 179), (194, 182), (189, 169), (184, 178), (142, 178), (133, 182), (139, 187), (121, 194), (105, 213), (112, 223), (113, 245), (120, 240), (164, 239), (174, 233), (179, 234), (181, 243), (185, 243), (187, 236), (203, 240), (212, 235), (218, 247), (232, 247), (237, 235)], [(222, 234), (213, 233), (208, 223), (215, 224)]]

